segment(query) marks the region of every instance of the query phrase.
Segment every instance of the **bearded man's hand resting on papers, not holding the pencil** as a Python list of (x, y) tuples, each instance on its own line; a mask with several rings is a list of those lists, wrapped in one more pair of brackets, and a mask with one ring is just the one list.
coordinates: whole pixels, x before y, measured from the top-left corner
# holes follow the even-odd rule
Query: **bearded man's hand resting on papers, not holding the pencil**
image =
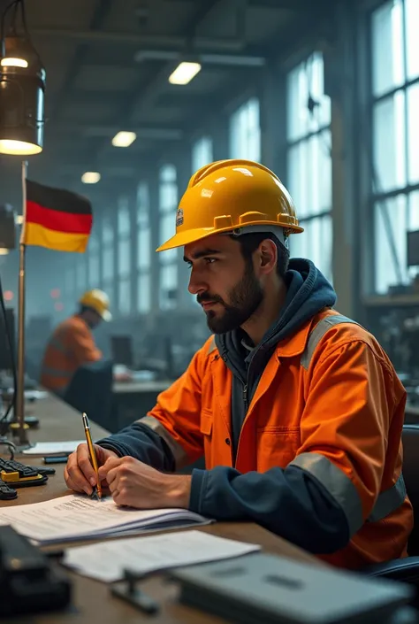
[(99, 469), (106, 479), (117, 505), (137, 509), (180, 507), (187, 509), (191, 492), (191, 477), (184, 474), (164, 474), (131, 457), (109, 458)]

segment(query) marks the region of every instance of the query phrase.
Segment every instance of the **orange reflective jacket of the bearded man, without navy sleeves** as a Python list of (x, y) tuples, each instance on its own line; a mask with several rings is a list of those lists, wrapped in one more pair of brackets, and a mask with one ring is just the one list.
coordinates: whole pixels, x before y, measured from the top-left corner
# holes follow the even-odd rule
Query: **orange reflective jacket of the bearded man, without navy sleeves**
[(235, 461), (231, 396), (232, 372), (211, 337), (141, 423), (164, 437), (177, 466), (204, 450), (207, 469), (263, 473), (291, 464), (313, 474), (351, 532), (345, 548), (320, 556), (332, 565), (356, 569), (407, 555), (406, 391), (372, 335), (325, 310), (279, 342), (249, 404)]

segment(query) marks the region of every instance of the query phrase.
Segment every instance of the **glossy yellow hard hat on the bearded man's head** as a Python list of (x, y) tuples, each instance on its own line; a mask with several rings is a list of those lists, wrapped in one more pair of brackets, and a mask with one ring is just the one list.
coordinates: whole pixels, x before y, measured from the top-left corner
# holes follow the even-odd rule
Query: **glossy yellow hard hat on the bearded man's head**
[(275, 173), (252, 160), (218, 160), (194, 173), (176, 213), (176, 234), (156, 251), (255, 226), (259, 232), (282, 227), (285, 236), (303, 232)]

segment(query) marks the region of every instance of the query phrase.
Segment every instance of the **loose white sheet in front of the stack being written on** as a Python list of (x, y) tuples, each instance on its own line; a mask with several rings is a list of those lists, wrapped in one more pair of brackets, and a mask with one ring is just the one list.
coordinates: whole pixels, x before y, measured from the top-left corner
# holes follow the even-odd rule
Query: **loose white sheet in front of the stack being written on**
[(84, 576), (114, 582), (123, 578), (125, 568), (148, 574), (260, 550), (254, 543), (235, 542), (201, 531), (183, 531), (71, 548), (65, 551), (64, 563)]

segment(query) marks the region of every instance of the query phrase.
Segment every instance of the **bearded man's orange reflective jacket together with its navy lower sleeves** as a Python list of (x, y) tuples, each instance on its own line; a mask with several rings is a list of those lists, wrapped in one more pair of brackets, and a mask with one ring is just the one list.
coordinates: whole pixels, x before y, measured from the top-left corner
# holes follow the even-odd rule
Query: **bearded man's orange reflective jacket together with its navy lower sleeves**
[[(407, 554), (413, 513), (401, 474), (405, 402), (376, 339), (325, 310), (278, 343), (235, 459), (232, 372), (213, 338), (148, 416), (100, 443), (154, 465), (151, 434), (177, 466), (203, 451), (207, 470), (193, 472), (192, 510), (258, 521), (333, 565), (361, 568)], [(323, 533), (319, 518), (328, 524)], [(334, 518), (340, 525), (343, 518), (343, 538)]]

